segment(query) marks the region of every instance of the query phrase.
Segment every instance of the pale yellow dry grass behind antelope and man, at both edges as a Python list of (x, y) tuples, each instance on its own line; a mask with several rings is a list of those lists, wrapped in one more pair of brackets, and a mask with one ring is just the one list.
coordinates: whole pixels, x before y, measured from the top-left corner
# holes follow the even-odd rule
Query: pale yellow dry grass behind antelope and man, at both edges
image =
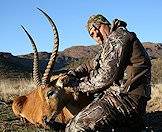
[[(0, 81), (0, 99), (4, 101), (13, 100), (15, 96), (20, 96), (34, 89), (34, 83), (28, 79), (20, 80), (1, 80)], [(147, 106), (148, 112), (162, 111), (162, 84), (156, 84), (152, 87), (151, 100)]]

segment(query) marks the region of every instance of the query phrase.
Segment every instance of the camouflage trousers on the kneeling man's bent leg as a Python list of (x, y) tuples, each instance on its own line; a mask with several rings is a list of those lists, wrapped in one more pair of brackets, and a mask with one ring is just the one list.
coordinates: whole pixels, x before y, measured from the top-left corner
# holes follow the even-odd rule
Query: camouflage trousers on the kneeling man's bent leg
[(102, 97), (78, 113), (66, 126), (65, 132), (111, 131), (112, 128), (141, 121), (147, 101), (141, 97), (119, 95), (106, 91)]

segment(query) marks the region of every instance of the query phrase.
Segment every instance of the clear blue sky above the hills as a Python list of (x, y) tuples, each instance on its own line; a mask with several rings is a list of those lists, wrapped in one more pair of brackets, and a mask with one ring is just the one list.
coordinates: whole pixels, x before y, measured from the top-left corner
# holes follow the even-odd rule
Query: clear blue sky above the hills
[(1, 0), (0, 52), (13, 55), (32, 52), (21, 29), (24, 25), (33, 36), (39, 51), (50, 52), (53, 46), (51, 28), (37, 7), (55, 21), (62, 51), (74, 45), (92, 45), (85, 25), (89, 16), (103, 14), (127, 22), (142, 42), (162, 43), (162, 0)]

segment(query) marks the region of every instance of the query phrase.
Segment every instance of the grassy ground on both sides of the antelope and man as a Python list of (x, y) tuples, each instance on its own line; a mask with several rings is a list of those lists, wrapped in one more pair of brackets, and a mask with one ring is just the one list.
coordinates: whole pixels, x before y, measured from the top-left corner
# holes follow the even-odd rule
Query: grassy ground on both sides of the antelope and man
[[(0, 81), (0, 132), (44, 132), (54, 131), (38, 128), (30, 123), (24, 123), (17, 118), (11, 109), (11, 100), (17, 95), (23, 95), (34, 88), (31, 80), (3, 80)], [(144, 117), (147, 131), (162, 131), (162, 84), (152, 88), (152, 99), (147, 106), (147, 114)], [(146, 130), (145, 130), (146, 131)]]

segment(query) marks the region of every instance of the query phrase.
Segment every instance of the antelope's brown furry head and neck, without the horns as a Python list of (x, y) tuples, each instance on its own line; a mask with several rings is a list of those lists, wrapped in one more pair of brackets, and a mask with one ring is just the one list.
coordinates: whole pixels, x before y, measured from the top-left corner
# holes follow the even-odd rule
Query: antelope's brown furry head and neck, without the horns
[[(48, 99), (48, 91), (58, 91), (58, 93)], [(92, 97), (86, 94), (80, 94), (78, 100), (75, 100), (73, 92), (46, 86), (38, 87), (27, 95), (16, 97), (12, 109), (16, 116), (23, 117), (32, 124), (47, 127), (45, 117), (48, 121), (53, 118), (57, 122), (66, 124), (91, 101)]]

